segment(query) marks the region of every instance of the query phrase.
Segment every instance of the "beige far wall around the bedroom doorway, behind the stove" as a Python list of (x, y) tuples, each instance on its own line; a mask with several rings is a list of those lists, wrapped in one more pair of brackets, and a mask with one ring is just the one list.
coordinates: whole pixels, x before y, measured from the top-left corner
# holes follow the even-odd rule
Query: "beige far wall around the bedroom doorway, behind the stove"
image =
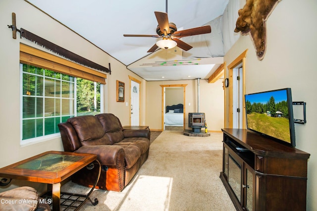
[[(162, 87), (160, 85), (187, 84), (185, 86), (185, 128), (188, 129), (188, 113), (197, 112), (197, 80), (147, 82), (146, 124), (154, 130), (162, 130)], [(222, 79), (213, 84), (200, 80), (200, 112), (206, 115), (208, 130), (220, 131), (223, 127)], [(190, 105), (189, 105), (190, 104)]]

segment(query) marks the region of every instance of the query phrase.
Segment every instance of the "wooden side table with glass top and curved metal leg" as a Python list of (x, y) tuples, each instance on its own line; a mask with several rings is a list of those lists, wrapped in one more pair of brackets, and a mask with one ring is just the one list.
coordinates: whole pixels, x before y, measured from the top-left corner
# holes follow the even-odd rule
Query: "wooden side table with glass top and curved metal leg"
[[(60, 192), (60, 183), (78, 170), (95, 161), (99, 164), (99, 175), (98, 178), (96, 178), (96, 185), (101, 172), (101, 166), (97, 160), (97, 155), (74, 152), (44, 152), (37, 156), (1, 168), (0, 177), (49, 184), (49, 187), (52, 188), (53, 211), (59, 211), (61, 194), (70, 195), (70, 193)], [(81, 197), (84, 197), (85, 200), (78, 201), (80, 202), (80, 205), (78, 207), (76, 206), (76, 209), (81, 207), (87, 200), (90, 200), (93, 205), (98, 204), (97, 199), (95, 199), (95, 202), (92, 202), (89, 198), (89, 195), (92, 193), (94, 188), (95, 186), (87, 195), (80, 195)]]

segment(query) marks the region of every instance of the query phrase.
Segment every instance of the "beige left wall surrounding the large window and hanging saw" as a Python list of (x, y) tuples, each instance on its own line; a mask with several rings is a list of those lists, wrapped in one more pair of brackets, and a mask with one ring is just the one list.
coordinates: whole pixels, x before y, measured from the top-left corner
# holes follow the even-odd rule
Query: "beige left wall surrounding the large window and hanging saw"
[[(20, 39), (17, 33), (16, 40), (12, 39), (12, 30), (6, 25), (12, 24), (12, 12), (16, 13), (17, 28), (24, 28), (50, 42), (83, 56), (102, 66), (108, 67), (111, 63), (111, 75), (107, 74), (105, 93), (105, 112), (119, 117), (122, 125), (129, 125), (129, 77), (141, 81), (141, 122), (145, 123), (145, 81), (126, 69), (126, 66), (110, 57), (106, 52), (92, 43), (84, 40), (68, 28), (59, 24), (51, 17), (36, 9), (24, 0), (0, 1), (0, 88), (2, 90), (0, 103), (0, 168), (21, 161), (45, 151), (63, 151), (60, 135), (43, 139), (42, 142), (20, 146), (21, 113), (20, 113), (20, 69), (19, 44), (24, 43), (35, 48), (47, 51), (45, 48)], [(53, 54), (53, 53), (52, 53)], [(116, 102), (116, 84), (119, 80), (125, 83), (125, 102)], [(0, 192), (6, 187), (0, 189)]]

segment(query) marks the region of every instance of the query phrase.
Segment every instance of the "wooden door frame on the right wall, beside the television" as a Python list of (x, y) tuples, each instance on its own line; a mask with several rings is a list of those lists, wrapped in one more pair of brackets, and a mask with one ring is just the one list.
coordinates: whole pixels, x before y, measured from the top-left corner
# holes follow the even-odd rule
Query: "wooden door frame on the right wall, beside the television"
[[(228, 106), (226, 105), (225, 101), (225, 109), (228, 109), (228, 117), (229, 122), (225, 121), (225, 127), (232, 128), (233, 127), (233, 69), (235, 69), (239, 64), (242, 63), (242, 128), (246, 128), (246, 105), (244, 101), (244, 95), (246, 94), (246, 56), (247, 56), (248, 49), (243, 51), (235, 60), (233, 60), (228, 65), (229, 70), (229, 100)], [(225, 110), (226, 113), (226, 110)]]

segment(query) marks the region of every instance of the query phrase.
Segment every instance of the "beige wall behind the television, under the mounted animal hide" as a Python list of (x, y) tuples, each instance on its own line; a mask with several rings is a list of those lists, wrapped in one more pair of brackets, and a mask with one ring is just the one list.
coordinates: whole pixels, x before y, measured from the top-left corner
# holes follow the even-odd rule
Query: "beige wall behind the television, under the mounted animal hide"
[[(244, 4), (245, 1), (241, 7)], [(230, 64), (249, 49), (246, 93), (290, 87), (293, 101), (307, 102), (307, 124), (295, 124), (295, 130), (296, 148), (311, 154), (308, 162), (308, 211), (317, 211), (316, 11), (316, 0), (300, 3), (298, 0), (282, 0), (266, 21), (267, 48), (262, 61), (257, 59), (249, 36), (241, 36), (224, 57), (224, 61)]]

